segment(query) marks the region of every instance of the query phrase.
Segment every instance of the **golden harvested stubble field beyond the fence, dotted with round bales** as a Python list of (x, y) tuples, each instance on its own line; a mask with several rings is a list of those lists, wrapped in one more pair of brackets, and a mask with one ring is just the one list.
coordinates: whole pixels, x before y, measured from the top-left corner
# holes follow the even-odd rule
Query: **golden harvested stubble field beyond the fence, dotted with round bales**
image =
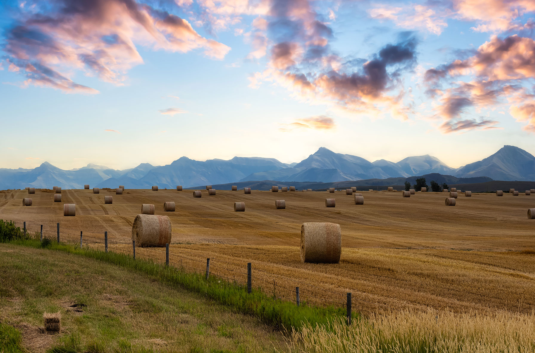
[[(354, 310), (384, 312), (396, 309), (448, 309), (453, 311), (529, 312), (535, 305), (535, 195), (521, 193), (460, 194), (457, 205), (447, 207), (447, 193), (362, 192), (364, 205), (355, 205), (345, 191), (278, 192), (217, 191), (193, 198), (193, 191), (63, 190), (62, 202), (53, 192), (25, 190), (0, 192), (0, 218), (26, 221), (45, 235), (62, 240), (102, 243), (108, 231), (110, 249), (131, 251), (132, 222), (142, 203), (154, 203), (156, 214), (171, 218), (170, 261), (203, 271), (211, 258), (211, 272), (243, 282), (246, 264), (253, 265), (253, 284), (274, 296), (319, 305), (345, 304), (353, 293)], [(104, 205), (104, 195), (113, 204)], [(23, 207), (31, 197), (33, 206)], [(334, 197), (335, 208), (325, 199)], [(275, 209), (277, 199), (286, 209)], [(164, 212), (174, 201), (176, 211)], [(244, 201), (245, 212), (233, 203)], [(76, 203), (77, 215), (63, 217), (63, 203)], [(300, 229), (303, 222), (339, 223), (342, 256), (339, 264), (303, 264)], [(21, 224), (20, 224), (21, 225)], [(66, 234), (66, 233), (70, 233)], [(78, 234), (78, 235), (77, 235)], [(95, 237), (95, 238), (90, 238)], [(124, 243), (124, 244), (116, 244)], [(136, 249), (136, 256), (165, 259), (162, 248)]]

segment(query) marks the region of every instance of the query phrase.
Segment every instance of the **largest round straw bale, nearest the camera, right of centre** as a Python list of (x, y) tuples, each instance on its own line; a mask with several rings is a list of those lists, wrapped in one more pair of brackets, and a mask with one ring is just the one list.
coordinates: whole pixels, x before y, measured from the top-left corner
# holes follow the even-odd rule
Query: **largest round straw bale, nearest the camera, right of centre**
[(339, 263), (342, 253), (340, 224), (303, 223), (301, 225), (301, 261)]

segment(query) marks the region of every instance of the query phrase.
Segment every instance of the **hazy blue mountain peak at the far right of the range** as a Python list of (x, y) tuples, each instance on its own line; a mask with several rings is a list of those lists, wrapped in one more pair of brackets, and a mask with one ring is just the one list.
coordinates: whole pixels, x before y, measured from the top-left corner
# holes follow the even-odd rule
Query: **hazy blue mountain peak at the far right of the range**
[(535, 180), (535, 157), (522, 148), (505, 145), (487, 158), (460, 168), (456, 176), (487, 176), (494, 180)]

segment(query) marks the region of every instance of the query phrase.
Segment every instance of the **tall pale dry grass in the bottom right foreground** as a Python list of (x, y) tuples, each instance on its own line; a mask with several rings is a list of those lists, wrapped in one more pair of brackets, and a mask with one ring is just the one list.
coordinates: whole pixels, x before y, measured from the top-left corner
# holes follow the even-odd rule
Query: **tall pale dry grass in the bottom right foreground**
[(493, 353), (535, 351), (535, 313), (400, 311), (348, 326), (306, 325), (292, 333), (307, 353)]

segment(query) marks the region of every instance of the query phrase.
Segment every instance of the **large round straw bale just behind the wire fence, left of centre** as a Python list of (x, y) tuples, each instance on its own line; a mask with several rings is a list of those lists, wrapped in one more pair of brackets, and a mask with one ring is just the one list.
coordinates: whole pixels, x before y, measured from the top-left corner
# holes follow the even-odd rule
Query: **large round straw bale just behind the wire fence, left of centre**
[(136, 246), (165, 246), (171, 243), (171, 235), (171, 219), (167, 216), (141, 214), (134, 218), (132, 240)]

